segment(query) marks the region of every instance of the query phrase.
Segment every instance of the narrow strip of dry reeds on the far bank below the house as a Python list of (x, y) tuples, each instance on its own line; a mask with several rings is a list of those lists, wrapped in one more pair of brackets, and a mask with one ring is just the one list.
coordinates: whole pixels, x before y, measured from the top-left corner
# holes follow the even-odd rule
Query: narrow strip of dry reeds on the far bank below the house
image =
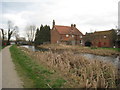
[(116, 56), (120, 54), (120, 52), (111, 49), (91, 49), (89, 47), (71, 46), (71, 45), (63, 45), (63, 44), (40, 45), (39, 47), (48, 48), (51, 50), (71, 50), (78, 53), (90, 53), (101, 56)]

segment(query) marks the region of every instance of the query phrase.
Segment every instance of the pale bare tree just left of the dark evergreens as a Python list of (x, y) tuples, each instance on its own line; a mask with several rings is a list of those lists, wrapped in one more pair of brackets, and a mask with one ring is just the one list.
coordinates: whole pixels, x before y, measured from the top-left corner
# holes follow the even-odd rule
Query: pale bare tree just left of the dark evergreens
[(35, 32), (36, 32), (36, 26), (35, 25), (26, 26), (26, 35), (27, 35), (28, 41), (30, 43), (32, 43), (34, 41)]

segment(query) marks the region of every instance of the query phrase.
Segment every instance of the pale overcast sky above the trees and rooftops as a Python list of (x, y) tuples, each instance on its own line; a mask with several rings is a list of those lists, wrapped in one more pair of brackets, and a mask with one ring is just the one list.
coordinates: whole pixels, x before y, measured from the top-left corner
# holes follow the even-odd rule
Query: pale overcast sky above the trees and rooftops
[[(28, 2), (29, 1), (29, 2)], [(118, 24), (119, 0), (2, 0), (0, 27), (7, 29), (11, 20), (24, 36), (25, 26), (56, 25), (76, 27), (83, 33), (109, 30)]]

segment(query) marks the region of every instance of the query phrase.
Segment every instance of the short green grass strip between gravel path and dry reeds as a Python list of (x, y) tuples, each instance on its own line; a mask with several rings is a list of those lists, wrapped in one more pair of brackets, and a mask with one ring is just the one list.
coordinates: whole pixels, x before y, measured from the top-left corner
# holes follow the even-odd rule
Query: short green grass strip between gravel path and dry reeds
[(10, 52), (25, 88), (56, 88), (66, 82), (55, 72), (38, 65), (16, 46), (10, 47)]

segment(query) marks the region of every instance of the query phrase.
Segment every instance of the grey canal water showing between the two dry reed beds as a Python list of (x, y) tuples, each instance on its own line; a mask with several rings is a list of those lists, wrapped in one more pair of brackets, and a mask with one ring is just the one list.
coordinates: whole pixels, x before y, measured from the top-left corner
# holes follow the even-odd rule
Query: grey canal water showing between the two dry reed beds
[[(48, 51), (49, 50), (45, 48), (36, 48), (35, 46), (29, 46), (29, 45), (23, 45), (21, 47), (28, 48), (31, 51)], [(102, 60), (104, 62), (111, 62), (116, 66), (120, 63), (119, 57), (100, 56), (100, 55), (94, 55), (94, 54), (88, 54), (88, 53), (79, 53), (79, 54), (77, 53), (76, 55), (84, 56), (85, 58), (89, 60), (96, 59), (96, 60)]]

